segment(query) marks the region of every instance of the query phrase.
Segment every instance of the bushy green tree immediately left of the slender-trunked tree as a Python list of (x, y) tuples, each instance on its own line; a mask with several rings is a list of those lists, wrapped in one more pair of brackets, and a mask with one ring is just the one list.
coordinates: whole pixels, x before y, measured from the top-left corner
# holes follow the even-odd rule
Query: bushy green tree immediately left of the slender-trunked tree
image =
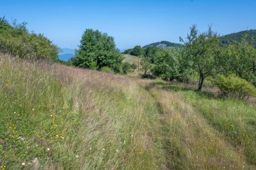
[(179, 60), (181, 52), (177, 48), (168, 48), (158, 52), (155, 58), (155, 65), (152, 73), (165, 80), (173, 80), (179, 78)]

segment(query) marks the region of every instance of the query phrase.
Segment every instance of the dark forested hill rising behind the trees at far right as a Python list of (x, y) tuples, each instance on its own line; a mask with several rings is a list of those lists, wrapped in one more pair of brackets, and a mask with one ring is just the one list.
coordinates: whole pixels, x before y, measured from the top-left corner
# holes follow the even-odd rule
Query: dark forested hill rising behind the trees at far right
[(248, 34), (248, 40), (251, 42), (251, 39), (253, 38), (253, 44), (256, 47), (256, 30), (248, 30), (248, 31), (242, 31), (242, 32), (236, 32), (232, 34), (228, 34), (226, 36), (221, 36), (220, 40), (222, 44), (229, 44), (232, 41), (241, 41), (241, 38), (244, 34)]

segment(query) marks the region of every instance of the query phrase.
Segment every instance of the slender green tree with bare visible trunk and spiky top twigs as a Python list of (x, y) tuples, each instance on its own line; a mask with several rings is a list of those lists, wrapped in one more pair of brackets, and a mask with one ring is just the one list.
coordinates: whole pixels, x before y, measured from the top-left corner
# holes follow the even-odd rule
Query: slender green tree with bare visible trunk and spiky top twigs
[(198, 89), (201, 90), (205, 78), (216, 75), (216, 67), (218, 67), (220, 58), (218, 34), (213, 32), (211, 27), (207, 32), (199, 34), (194, 25), (187, 36), (184, 52), (185, 60), (191, 62), (189, 69), (193, 69), (199, 75)]

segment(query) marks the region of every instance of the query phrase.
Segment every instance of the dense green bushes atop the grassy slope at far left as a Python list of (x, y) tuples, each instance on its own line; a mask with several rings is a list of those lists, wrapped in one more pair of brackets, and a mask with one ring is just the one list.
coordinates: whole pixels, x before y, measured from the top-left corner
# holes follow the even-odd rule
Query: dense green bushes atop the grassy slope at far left
[(59, 48), (43, 34), (29, 32), (26, 23), (9, 23), (0, 17), (0, 52), (20, 58), (57, 60)]

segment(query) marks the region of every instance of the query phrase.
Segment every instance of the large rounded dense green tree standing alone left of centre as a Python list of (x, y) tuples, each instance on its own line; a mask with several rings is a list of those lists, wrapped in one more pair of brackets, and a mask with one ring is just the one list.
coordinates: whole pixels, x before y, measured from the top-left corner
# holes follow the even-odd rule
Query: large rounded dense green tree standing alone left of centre
[(87, 29), (80, 43), (79, 50), (75, 51), (73, 65), (94, 70), (109, 67), (115, 73), (121, 71), (123, 57), (119, 54), (112, 36)]

